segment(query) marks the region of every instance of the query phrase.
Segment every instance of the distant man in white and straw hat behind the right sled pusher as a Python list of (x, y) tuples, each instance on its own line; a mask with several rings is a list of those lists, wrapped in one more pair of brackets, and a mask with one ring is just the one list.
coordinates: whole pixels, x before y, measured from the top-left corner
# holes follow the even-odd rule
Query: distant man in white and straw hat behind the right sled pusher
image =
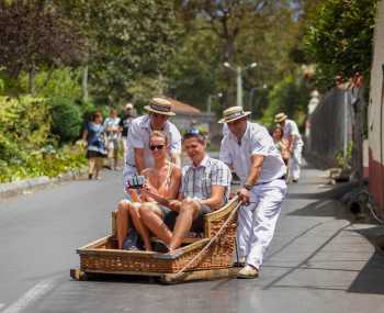
[(291, 153), (290, 158), (290, 177), (292, 182), (297, 182), (300, 179), (300, 167), (302, 165), (302, 152), (304, 143), (298, 132), (297, 125), (294, 121), (289, 120), (285, 113), (279, 113), (274, 116), (274, 122), (279, 123), (284, 131), (284, 138), (289, 143), (289, 152)]

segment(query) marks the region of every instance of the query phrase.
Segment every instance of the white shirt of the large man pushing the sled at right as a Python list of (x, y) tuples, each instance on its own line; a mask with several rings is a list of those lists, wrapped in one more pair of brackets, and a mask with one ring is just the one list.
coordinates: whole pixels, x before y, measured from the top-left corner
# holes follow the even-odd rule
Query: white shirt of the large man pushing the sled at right
[(285, 175), (284, 161), (266, 127), (247, 122), (247, 130), (240, 143), (230, 132), (223, 138), (219, 158), (225, 164), (233, 166), (242, 185), (249, 175), (252, 155), (264, 156), (257, 183), (269, 182)]

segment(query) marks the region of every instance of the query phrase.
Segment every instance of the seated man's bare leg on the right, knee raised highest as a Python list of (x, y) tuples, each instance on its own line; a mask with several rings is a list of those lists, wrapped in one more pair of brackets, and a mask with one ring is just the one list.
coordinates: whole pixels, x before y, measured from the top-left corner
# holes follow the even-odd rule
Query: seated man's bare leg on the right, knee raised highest
[(169, 244), (169, 251), (172, 253), (181, 246), (185, 234), (191, 230), (193, 220), (197, 216), (200, 203), (195, 200), (185, 199), (181, 203), (178, 219), (173, 228), (173, 236)]

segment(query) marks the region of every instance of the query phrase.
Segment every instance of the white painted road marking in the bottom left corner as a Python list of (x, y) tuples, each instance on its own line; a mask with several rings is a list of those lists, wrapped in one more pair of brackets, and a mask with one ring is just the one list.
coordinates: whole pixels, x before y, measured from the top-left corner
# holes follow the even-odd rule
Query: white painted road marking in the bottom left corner
[[(54, 283), (53, 279), (47, 279), (38, 282), (29, 291), (26, 291), (22, 298), (20, 298), (16, 302), (8, 306), (1, 313), (19, 313), (24, 310), (26, 306), (35, 302), (37, 299), (42, 298), (45, 293), (53, 289)], [(1, 306), (0, 306), (1, 309)]]

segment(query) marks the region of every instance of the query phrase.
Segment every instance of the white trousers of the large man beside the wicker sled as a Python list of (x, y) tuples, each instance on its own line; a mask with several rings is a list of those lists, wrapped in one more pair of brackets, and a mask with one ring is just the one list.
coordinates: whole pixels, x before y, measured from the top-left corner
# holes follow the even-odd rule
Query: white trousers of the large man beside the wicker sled
[(247, 265), (259, 269), (273, 237), (286, 183), (283, 179), (276, 179), (253, 187), (251, 193), (252, 203), (239, 210), (237, 246), (239, 257), (246, 257)]

